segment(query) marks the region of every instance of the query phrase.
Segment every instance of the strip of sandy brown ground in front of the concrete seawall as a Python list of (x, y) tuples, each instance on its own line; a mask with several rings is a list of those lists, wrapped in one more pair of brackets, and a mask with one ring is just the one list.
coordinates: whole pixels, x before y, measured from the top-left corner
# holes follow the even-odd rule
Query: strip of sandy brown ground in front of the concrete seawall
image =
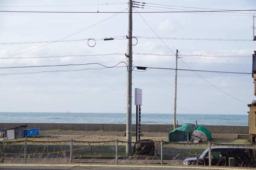
[[(81, 141), (126, 141), (125, 132), (117, 131), (72, 131), (72, 130), (47, 130), (40, 131), (41, 137), (35, 137), (35, 140), (81, 140)], [(132, 133), (132, 141), (135, 142), (135, 134)], [(33, 139), (33, 138), (32, 138)], [(140, 139), (152, 139), (153, 141), (168, 141), (167, 133), (149, 133), (144, 132)], [(249, 144), (246, 139), (224, 139), (215, 138), (211, 142), (228, 144)]]

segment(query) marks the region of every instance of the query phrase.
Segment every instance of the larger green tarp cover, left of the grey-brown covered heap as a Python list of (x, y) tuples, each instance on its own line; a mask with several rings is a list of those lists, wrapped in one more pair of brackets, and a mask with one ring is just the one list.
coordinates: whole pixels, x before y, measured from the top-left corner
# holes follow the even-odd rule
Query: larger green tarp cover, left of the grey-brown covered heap
[(169, 142), (189, 142), (192, 132), (195, 130), (195, 125), (185, 123), (184, 125), (174, 128), (169, 133)]

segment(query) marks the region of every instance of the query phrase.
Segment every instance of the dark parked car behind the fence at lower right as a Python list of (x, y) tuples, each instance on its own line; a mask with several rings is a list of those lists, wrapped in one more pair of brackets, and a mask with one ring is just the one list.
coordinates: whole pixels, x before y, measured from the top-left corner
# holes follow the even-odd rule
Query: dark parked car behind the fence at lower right
[[(212, 147), (211, 157), (213, 166), (228, 166), (233, 157), (236, 167), (256, 167), (256, 150), (252, 147)], [(185, 159), (183, 164), (209, 165), (209, 148), (198, 157)]]

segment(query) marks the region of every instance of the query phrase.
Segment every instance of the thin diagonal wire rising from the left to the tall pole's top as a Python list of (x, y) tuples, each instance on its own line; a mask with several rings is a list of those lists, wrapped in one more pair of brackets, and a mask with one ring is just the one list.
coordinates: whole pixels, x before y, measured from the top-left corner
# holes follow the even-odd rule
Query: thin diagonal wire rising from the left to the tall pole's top
[[(125, 8), (125, 9), (122, 10), (122, 11), (125, 11), (125, 10), (127, 10), (127, 8)], [(122, 11), (120, 11), (120, 12), (122, 12)], [(120, 13), (120, 12), (119, 12), (119, 13)], [(91, 26), (88, 26), (88, 27), (83, 28), (83, 29), (81, 29), (81, 30), (79, 30), (79, 31), (76, 31), (76, 32), (74, 32), (73, 34), (69, 34), (69, 35), (67, 35), (67, 36), (65, 36), (65, 37), (62, 37), (62, 38), (56, 40), (56, 41), (63, 40), (63, 39), (65, 39), (65, 38), (67, 38), (67, 37), (71, 37), (71, 36), (73, 36), (73, 35), (75, 35), (75, 34), (78, 34), (78, 33), (80, 33), (81, 31), (84, 31), (84, 30), (89, 29), (89, 28), (91, 28), (91, 27), (93, 27), (93, 26), (96, 26), (97, 24), (102, 23), (102, 22), (104, 22), (105, 20), (108, 20), (108, 19), (114, 17), (114, 16), (116, 16), (116, 15), (119, 14), (119, 13), (113, 14), (113, 15), (111, 15), (110, 17), (107, 17), (107, 18), (105, 18), (105, 19), (103, 19), (103, 20), (101, 20), (101, 21), (99, 21), (99, 22), (97, 22), (97, 23), (92, 24)], [(54, 42), (55, 42), (55, 41), (54, 41)], [(49, 45), (49, 44), (52, 44), (52, 43), (54, 43), (54, 42), (49, 42), (49, 43), (47, 43), (47, 44), (44, 44), (44, 45), (41, 45), (41, 46), (38, 46), (38, 47), (35, 47), (35, 48), (32, 48), (32, 49), (29, 49), (29, 50), (26, 50), (26, 51), (23, 51), (23, 52), (20, 52), (20, 53), (17, 53), (17, 54), (13, 54), (13, 55), (11, 55), (11, 56), (9, 56), (9, 57), (14, 57), (14, 56), (17, 56), (17, 55), (19, 55), (19, 54), (24, 54), (24, 53), (26, 53), (26, 52), (33, 51), (33, 50), (36, 50), (36, 49), (38, 49), (38, 48), (42, 48), (42, 47), (44, 47), (44, 46), (46, 46), (46, 45)], [(6, 58), (9, 58), (9, 57), (6, 57)]]

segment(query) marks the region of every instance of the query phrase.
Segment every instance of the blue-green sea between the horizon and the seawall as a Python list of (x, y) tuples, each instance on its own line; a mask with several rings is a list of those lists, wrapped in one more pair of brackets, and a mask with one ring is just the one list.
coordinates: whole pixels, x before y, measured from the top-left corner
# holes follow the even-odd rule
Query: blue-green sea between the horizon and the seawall
[[(198, 122), (198, 125), (234, 125), (247, 126), (246, 114), (177, 114), (179, 125)], [(171, 113), (141, 113), (141, 124), (170, 125)], [(125, 124), (126, 113), (26, 113), (0, 112), (0, 123), (103, 123)], [(136, 113), (132, 114), (132, 123), (136, 123)]]

